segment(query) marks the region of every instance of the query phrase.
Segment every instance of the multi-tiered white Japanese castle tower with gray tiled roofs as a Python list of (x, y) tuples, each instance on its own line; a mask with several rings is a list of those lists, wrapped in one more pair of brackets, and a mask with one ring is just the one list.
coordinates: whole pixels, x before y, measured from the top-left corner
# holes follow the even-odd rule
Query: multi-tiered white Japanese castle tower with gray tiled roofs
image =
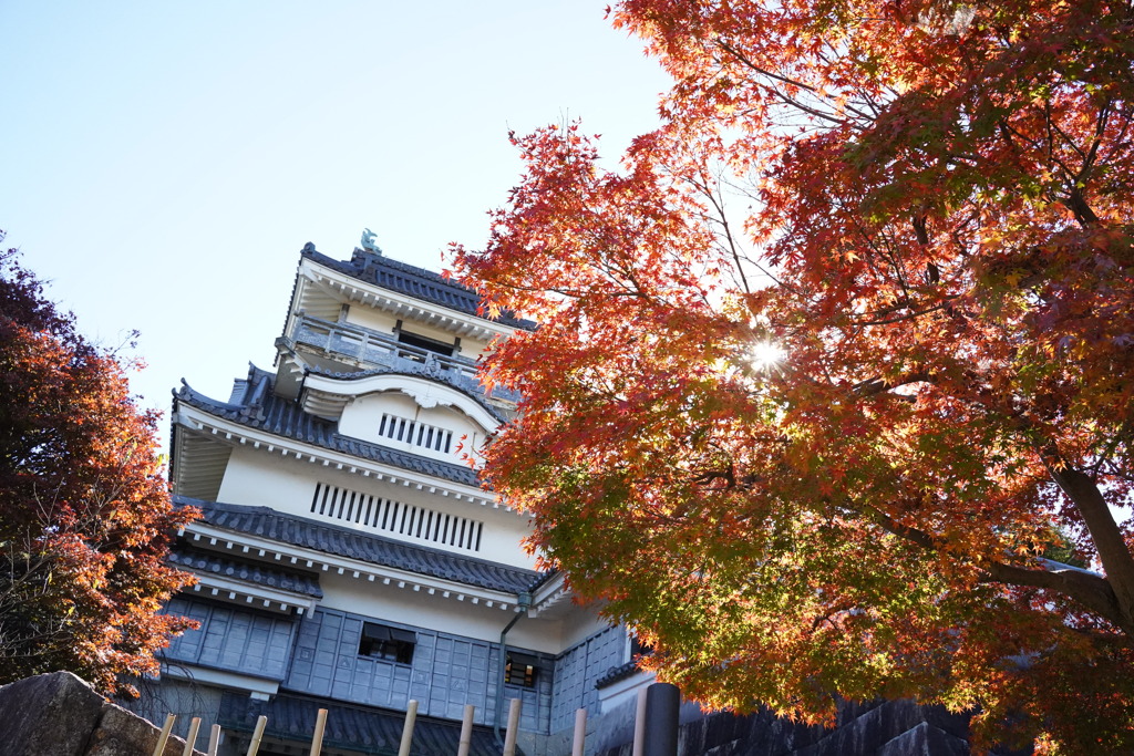
[(349, 261), (304, 247), (274, 371), (223, 400), (175, 394), (175, 496), (203, 516), (172, 555), (198, 583), (168, 611), (201, 628), (174, 639), (151, 706), (221, 724), (242, 754), (260, 714), (261, 753), (306, 753), (328, 708), (324, 753), (392, 754), (415, 699), (413, 753), (455, 754), (473, 704), (486, 756), (521, 698), (525, 753), (562, 753), (575, 710), (609, 708), (633, 669), (625, 631), (535, 570), (526, 517), (468, 462), (518, 400), (476, 360), (534, 324), (482, 316), (371, 239)]

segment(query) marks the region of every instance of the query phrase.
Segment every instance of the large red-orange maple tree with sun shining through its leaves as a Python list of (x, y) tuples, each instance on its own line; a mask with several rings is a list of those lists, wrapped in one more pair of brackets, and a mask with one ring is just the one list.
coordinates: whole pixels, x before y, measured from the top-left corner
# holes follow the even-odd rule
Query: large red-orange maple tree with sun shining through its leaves
[(626, 0), (675, 83), (578, 125), (483, 252), (541, 323), (485, 476), (712, 705), (976, 712), (976, 746), (1134, 748), (1134, 10)]

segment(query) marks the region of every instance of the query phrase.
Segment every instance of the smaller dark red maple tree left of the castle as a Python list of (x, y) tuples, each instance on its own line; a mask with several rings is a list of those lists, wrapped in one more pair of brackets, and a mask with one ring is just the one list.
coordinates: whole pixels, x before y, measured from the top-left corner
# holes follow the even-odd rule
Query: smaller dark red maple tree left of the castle
[(195, 512), (170, 503), (158, 415), (16, 256), (0, 254), (0, 682), (68, 670), (129, 693), (194, 626), (159, 612), (189, 580), (164, 557)]

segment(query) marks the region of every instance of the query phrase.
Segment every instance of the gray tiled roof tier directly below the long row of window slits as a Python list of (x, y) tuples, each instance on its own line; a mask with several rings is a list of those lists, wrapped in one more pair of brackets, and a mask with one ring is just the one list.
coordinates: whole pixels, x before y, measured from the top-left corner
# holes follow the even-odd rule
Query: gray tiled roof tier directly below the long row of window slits
[[(319, 520), (285, 515), (268, 507), (244, 507), (187, 496), (174, 496), (179, 506), (196, 507), (209, 525), (279, 543), (311, 549), (428, 575), (479, 588), (518, 594), (540, 578), (535, 570), (506, 567), (439, 549), (384, 538)], [(192, 525), (189, 528), (192, 529)]]

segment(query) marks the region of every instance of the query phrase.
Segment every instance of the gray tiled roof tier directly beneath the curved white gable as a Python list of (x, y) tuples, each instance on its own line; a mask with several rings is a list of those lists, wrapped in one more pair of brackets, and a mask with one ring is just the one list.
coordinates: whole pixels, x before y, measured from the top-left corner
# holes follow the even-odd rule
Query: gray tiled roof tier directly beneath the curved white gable
[[(261, 373), (262, 371), (253, 368), (249, 374), (249, 385), (256, 383), (259, 380), (269, 380), (266, 376), (261, 375)], [(380, 443), (342, 435), (337, 432), (335, 423), (308, 415), (295, 401), (281, 399), (270, 390), (261, 391), (259, 394), (259, 404), (228, 404), (210, 399), (191, 389), (188, 384), (184, 384), (175, 396), (177, 401), (184, 401), (211, 415), (247, 427), (259, 428), (274, 435), (332, 451), (340, 451), (382, 465), (430, 475), (443, 481), (480, 486), (476, 473), (464, 465), (454, 465), (452, 462), (430, 459), (429, 457), (422, 457), (408, 451), (390, 449)], [(247, 391), (245, 396), (247, 396)]]

